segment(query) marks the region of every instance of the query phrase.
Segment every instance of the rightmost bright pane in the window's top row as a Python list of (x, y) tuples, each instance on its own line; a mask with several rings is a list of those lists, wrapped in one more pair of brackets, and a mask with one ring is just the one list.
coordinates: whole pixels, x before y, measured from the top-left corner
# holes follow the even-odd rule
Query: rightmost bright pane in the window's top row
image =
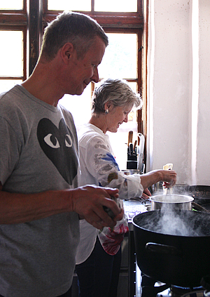
[(137, 0), (94, 0), (94, 11), (137, 12)]

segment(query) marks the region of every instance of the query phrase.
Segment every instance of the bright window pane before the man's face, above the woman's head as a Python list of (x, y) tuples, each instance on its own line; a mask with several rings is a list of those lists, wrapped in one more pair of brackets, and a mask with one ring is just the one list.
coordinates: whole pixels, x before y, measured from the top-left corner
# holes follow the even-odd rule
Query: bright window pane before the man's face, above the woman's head
[(137, 78), (137, 34), (108, 33), (99, 77)]

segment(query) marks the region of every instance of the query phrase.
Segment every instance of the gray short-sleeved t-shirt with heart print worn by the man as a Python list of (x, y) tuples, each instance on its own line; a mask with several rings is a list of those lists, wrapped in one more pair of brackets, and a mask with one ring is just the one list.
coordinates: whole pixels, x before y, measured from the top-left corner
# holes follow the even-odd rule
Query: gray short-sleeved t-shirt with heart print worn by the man
[[(71, 113), (15, 86), (0, 96), (3, 191), (36, 193), (78, 186), (78, 140)], [(53, 297), (71, 286), (78, 214), (0, 225), (0, 294)]]

